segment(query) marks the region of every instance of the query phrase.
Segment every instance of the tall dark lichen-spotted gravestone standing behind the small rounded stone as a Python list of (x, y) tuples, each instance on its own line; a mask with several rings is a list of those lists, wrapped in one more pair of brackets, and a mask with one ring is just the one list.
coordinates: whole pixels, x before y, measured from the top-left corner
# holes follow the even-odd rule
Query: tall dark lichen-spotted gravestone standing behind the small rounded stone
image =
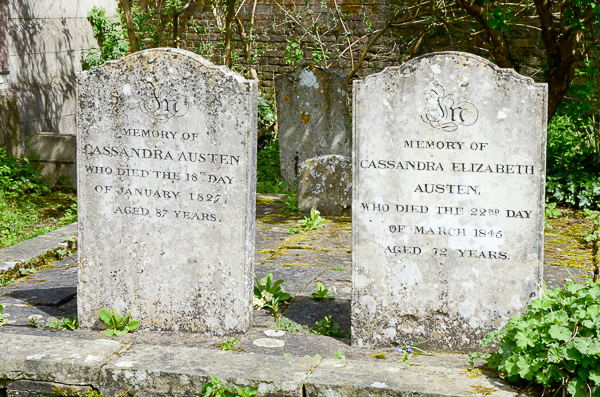
[(350, 157), (346, 76), (325, 68), (298, 68), (275, 79), (281, 178), (298, 179), (311, 157)]

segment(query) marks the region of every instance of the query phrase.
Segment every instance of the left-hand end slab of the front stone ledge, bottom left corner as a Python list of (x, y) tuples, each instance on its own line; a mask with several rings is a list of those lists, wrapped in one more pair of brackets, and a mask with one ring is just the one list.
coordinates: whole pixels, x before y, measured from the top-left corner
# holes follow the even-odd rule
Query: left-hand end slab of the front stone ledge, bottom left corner
[(0, 333), (0, 379), (89, 385), (119, 342)]

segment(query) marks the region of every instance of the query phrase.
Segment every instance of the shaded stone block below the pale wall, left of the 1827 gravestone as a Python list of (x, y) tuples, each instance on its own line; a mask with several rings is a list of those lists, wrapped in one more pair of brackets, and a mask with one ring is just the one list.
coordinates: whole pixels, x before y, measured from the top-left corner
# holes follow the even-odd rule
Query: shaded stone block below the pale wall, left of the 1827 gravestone
[(29, 137), (27, 149), (39, 156), (42, 175), (55, 186), (59, 178), (68, 178), (77, 188), (77, 144), (75, 134), (38, 132)]

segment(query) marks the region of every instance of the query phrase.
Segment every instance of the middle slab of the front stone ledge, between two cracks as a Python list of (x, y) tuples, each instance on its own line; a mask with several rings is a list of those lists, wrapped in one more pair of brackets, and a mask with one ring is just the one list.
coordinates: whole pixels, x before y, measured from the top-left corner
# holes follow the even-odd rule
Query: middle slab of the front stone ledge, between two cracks
[(302, 385), (319, 360), (266, 357), (179, 347), (133, 347), (102, 369), (105, 395), (133, 390), (136, 396), (197, 395), (210, 375), (231, 386), (258, 386), (259, 395), (302, 396)]

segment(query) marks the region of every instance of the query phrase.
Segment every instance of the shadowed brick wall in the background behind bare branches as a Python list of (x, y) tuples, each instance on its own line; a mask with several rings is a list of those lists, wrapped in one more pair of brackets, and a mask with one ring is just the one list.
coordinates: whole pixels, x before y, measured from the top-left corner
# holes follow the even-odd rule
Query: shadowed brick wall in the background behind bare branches
[[(346, 51), (342, 53), (340, 60), (334, 59), (335, 54), (332, 51), (331, 58), (325, 62), (318, 62), (318, 65), (348, 74), (352, 70), (353, 60), (356, 62), (360, 58), (367, 41), (372, 37), (373, 34), (370, 32), (381, 29), (394, 3), (398, 4), (398, 1), (257, 0), (256, 6), (254, 6), (254, 1), (247, 0), (240, 9), (239, 16), (247, 28), (254, 9), (257, 48), (262, 50), (261, 56), (257, 59), (257, 69), (263, 80), (263, 86), (271, 88), (276, 75), (295, 69), (294, 66), (286, 63), (285, 48), (289, 44), (288, 40), (300, 37), (305, 60), (299, 64), (312, 63), (310, 47), (314, 46), (315, 39), (307, 34), (302, 26), (306, 27), (313, 21), (326, 26), (317, 39), (324, 44), (325, 48), (332, 50), (337, 48), (340, 53)], [(340, 14), (347, 15), (343, 25), (334, 20), (334, 18), (340, 19)], [(205, 34), (198, 34), (192, 29), (187, 29), (187, 24), (181, 23), (183, 33), (180, 46), (194, 52), (198, 52), (200, 44), (208, 43), (218, 48), (222, 35), (219, 34), (212, 10), (208, 6), (190, 6), (180, 19), (183, 22), (189, 21), (191, 18), (196, 20), (197, 25), (206, 29)], [(344, 31), (352, 33), (346, 38), (343, 34)], [(355, 78), (363, 78), (379, 72), (387, 66), (396, 66), (404, 62), (407, 55), (410, 54), (412, 43), (419, 39), (417, 33), (418, 29), (414, 26), (389, 29), (371, 48)], [(515, 27), (508, 37), (514, 45), (512, 55), (517, 71), (531, 76), (535, 80), (540, 80), (543, 76), (541, 65), (544, 50), (538, 32), (534, 29)], [(239, 48), (239, 37), (234, 37), (234, 40), (236, 40), (234, 45)], [(352, 54), (347, 50), (348, 40), (352, 43)], [(425, 35), (418, 50), (412, 56), (446, 50), (471, 52), (493, 61), (493, 57), (475, 43), (461, 42), (457, 35), (448, 34), (443, 27)], [(216, 50), (215, 52), (217, 55), (212, 57), (212, 61), (223, 63), (224, 59), (220, 51)]]

